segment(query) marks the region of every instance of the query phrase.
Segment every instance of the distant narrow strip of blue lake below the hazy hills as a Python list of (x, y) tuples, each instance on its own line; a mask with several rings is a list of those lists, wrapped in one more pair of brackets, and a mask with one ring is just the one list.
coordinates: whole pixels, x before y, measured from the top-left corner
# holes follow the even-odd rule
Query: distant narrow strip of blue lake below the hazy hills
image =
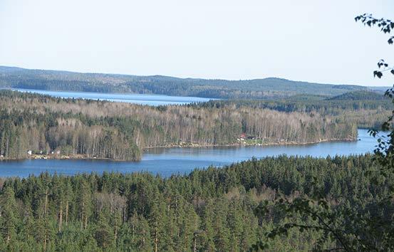
[(170, 95), (143, 95), (143, 94), (116, 94), (116, 93), (92, 93), (92, 92), (67, 92), (48, 91), (24, 88), (12, 88), (12, 90), (28, 93), (38, 93), (50, 95), (58, 98), (81, 98), (90, 100), (108, 100), (120, 103), (137, 103), (140, 105), (183, 105), (188, 103), (203, 103), (211, 98), (199, 98), (190, 96), (170, 96)]

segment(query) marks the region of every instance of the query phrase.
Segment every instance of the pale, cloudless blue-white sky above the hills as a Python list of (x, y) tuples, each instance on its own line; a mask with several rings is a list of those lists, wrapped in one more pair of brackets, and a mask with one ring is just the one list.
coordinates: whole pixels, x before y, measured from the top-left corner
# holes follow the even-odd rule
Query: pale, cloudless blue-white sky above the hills
[(394, 46), (364, 12), (394, 19), (394, 2), (0, 0), (0, 65), (392, 85), (372, 71)]

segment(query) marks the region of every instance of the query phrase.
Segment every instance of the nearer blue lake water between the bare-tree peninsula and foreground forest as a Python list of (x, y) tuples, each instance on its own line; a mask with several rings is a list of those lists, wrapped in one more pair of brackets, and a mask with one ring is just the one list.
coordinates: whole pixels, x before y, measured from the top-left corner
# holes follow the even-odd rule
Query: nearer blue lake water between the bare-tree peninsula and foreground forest
[(355, 142), (322, 142), (315, 145), (276, 145), (267, 147), (209, 147), (209, 148), (156, 148), (143, 154), (140, 162), (112, 162), (103, 160), (56, 160), (36, 159), (0, 162), (0, 177), (27, 177), (48, 171), (58, 174), (77, 174), (83, 172), (140, 172), (161, 174), (187, 174), (192, 169), (209, 165), (223, 166), (252, 157), (269, 157), (280, 154), (327, 157), (335, 155), (364, 154), (373, 152), (376, 140), (367, 130), (358, 130)]

